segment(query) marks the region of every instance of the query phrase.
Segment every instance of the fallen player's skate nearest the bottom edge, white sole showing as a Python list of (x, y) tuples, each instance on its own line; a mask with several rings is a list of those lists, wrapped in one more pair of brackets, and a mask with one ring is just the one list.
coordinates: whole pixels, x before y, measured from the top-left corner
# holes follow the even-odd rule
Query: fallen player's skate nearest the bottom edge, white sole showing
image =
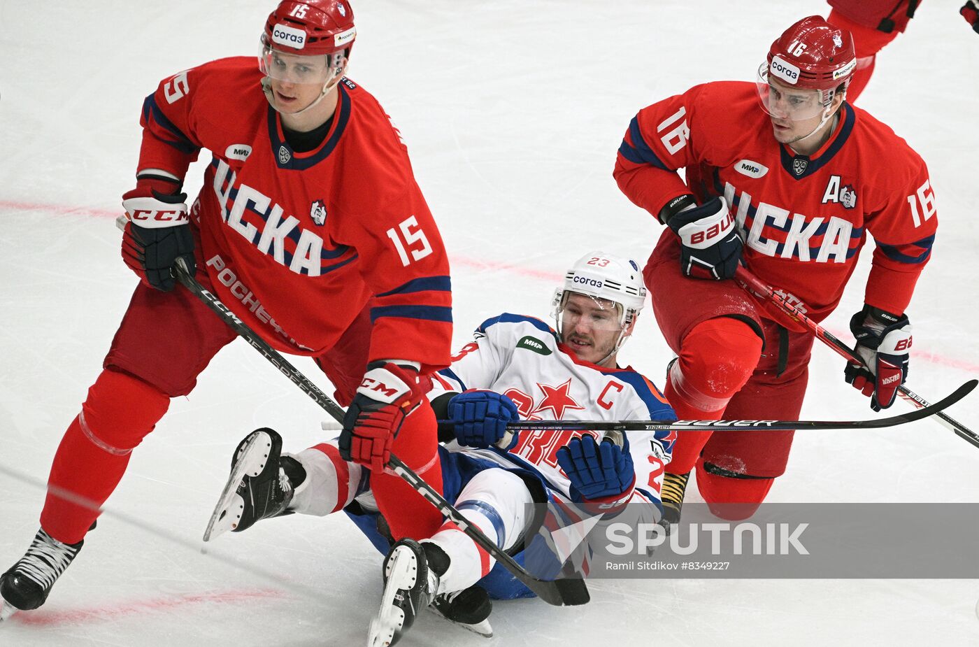
[(448, 561), (445, 551), (429, 541), (401, 539), (392, 546), (384, 560), (381, 609), (370, 624), (370, 647), (394, 645), (411, 628), (418, 613), (435, 599)]

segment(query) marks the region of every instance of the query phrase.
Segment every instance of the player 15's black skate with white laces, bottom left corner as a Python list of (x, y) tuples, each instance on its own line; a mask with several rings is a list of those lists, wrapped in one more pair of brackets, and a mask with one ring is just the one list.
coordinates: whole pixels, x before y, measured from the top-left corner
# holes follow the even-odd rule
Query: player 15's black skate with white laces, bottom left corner
[(62, 543), (43, 529), (37, 531), (20, 561), (0, 577), (0, 621), (44, 604), (83, 543)]

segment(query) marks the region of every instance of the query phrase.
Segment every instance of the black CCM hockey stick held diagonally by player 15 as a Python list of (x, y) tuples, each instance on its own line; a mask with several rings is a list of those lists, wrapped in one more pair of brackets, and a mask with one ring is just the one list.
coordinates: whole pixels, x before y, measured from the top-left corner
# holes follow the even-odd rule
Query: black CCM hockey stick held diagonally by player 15
[[(323, 409), (335, 420), (338, 422), (343, 422), (345, 414), (344, 409), (339, 404), (334, 402), (329, 395), (320, 391), (316, 385), (310, 382), (299, 369), (293, 366), (275, 348), (270, 347), (264, 340), (259, 338), (255, 331), (253, 331), (244, 321), (239, 319), (238, 316), (228, 308), (228, 306), (218, 300), (217, 297), (212, 295), (204, 288), (204, 286), (198, 283), (198, 281), (187, 271), (187, 267), (183, 264), (182, 259), (177, 261), (176, 278), (177, 281), (187, 288), (192, 295), (197, 297), (211, 310), (213, 310), (219, 317), (221, 317), (221, 319), (224, 320), (226, 324), (228, 324), (228, 326), (238, 333), (240, 337), (242, 337), (258, 352), (260, 352), (265, 359), (270, 361), (280, 373), (292, 380), (293, 384), (299, 387), (303, 393), (311, 397), (316, 404), (323, 407)], [(483, 531), (480, 531), (479, 528), (471, 525), (458, 510), (456, 510), (434, 487), (432, 487), (432, 485), (427, 484), (424, 479), (415, 474), (411, 468), (402, 463), (394, 454), (391, 455), (391, 459), (388, 461), (388, 467), (391, 468), (391, 470), (393, 470), (398, 477), (404, 480), (405, 483), (411, 485), (416, 492), (424, 496), (429, 500), (429, 502), (435, 505), (445, 517), (459, 527), (459, 530), (468, 534), (473, 541), (492, 555), (493, 559), (502, 564), (503, 568), (509, 571), (514, 578), (522, 581), (529, 589), (536, 593), (538, 598), (544, 602), (560, 607), (580, 605), (589, 600), (588, 589), (585, 586), (583, 578), (564, 578), (554, 580), (535, 578), (533, 575), (531, 575), (531, 573), (520, 566), (520, 564), (514, 561), (512, 557), (500, 550), (495, 543), (490, 541), (489, 537), (487, 537)]]

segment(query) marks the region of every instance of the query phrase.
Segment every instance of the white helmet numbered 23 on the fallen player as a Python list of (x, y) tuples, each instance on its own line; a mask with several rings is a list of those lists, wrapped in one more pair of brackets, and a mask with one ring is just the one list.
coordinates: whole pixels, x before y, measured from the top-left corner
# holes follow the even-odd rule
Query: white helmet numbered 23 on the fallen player
[(558, 334), (562, 337), (562, 312), (571, 293), (612, 301), (618, 305), (618, 327), (621, 334), (613, 352), (629, 339), (629, 324), (646, 300), (642, 272), (634, 260), (605, 252), (584, 254), (565, 273), (563, 285), (554, 291), (552, 314), (557, 323)]

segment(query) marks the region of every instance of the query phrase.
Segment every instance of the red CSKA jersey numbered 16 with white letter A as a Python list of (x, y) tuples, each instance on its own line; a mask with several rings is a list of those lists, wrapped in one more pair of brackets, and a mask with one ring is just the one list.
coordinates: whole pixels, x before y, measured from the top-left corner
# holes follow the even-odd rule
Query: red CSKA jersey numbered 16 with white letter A
[(614, 175), (653, 214), (683, 194), (700, 203), (723, 195), (747, 266), (816, 320), (839, 302), (869, 233), (876, 248), (864, 300), (901, 314), (938, 225), (928, 170), (861, 109), (844, 102), (840, 116), (822, 148), (796, 155), (775, 140), (754, 83), (698, 85), (639, 111)]

